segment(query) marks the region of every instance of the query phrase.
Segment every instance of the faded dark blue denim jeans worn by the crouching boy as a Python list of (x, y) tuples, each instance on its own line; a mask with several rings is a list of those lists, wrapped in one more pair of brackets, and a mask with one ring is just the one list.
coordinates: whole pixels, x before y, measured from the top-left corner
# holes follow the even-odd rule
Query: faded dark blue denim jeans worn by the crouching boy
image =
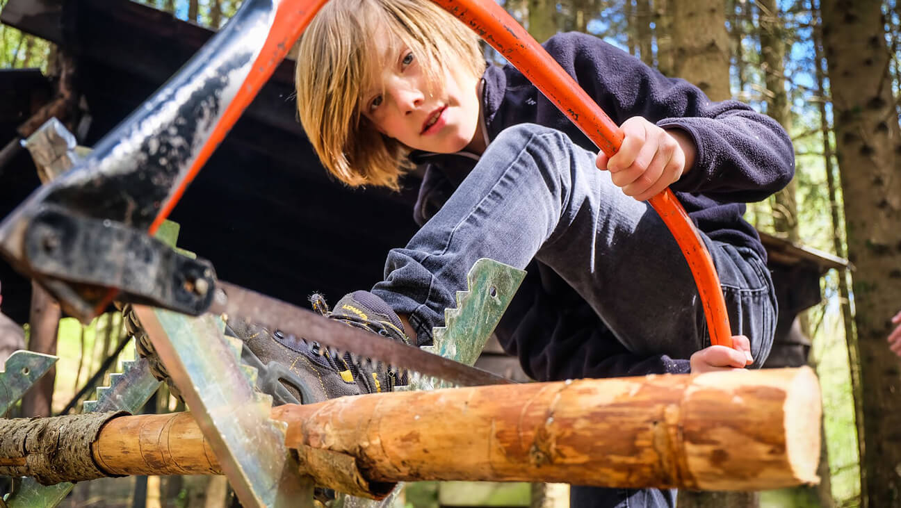
[[(389, 252), (385, 280), (372, 292), (396, 313), (409, 314), (423, 344), (432, 327), (443, 324), (444, 309), (456, 305), (455, 292), (467, 288), (466, 274), (477, 259), (516, 268), (537, 259), (591, 305), (625, 349), (689, 358), (709, 346), (694, 279), (669, 229), (650, 204), (623, 195), (609, 173), (595, 167), (595, 158), (565, 134), (539, 125), (501, 132), (441, 211), (404, 249)], [(760, 366), (776, 327), (769, 272), (754, 250), (701, 236), (733, 333), (748, 336)], [(574, 499), (597, 497), (598, 503), (583, 506), (672, 504), (669, 491), (584, 492), (598, 495), (574, 492)], [(614, 503), (617, 495), (622, 499)]]

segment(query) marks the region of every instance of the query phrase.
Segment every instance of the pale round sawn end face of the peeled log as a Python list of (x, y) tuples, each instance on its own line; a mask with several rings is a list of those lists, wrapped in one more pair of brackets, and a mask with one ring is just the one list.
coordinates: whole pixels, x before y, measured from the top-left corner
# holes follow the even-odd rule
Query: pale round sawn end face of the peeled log
[(786, 386), (786, 457), (798, 482), (816, 484), (820, 461), (820, 383), (810, 367), (798, 368)]

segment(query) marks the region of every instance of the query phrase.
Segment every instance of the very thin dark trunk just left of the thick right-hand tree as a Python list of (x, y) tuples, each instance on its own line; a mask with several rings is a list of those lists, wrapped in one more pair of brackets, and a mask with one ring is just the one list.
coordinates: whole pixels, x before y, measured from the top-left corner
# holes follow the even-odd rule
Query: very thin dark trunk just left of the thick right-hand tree
[[(815, 5), (811, 0), (811, 13), (814, 13), (815, 19), (818, 19), (819, 6)], [(841, 231), (843, 228), (842, 218), (839, 213), (838, 188), (835, 185), (835, 168), (833, 168), (833, 144), (830, 142), (830, 128), (828, 117), (826, 116), (826, 89), (824, 86), (824, 60), (823, 60), (823, 30), (821, 23), (816, 23), (814, 27), (814, 58), (815, 58), (815, 77), (816, 91), (820, 95), (818, 101), (820, 110), (820, 131), (823, 134), (823, 155), (824, 168), (826, 172), (826, 186), (829, 192), (829, 214), (833, 224), (833, 249), (835, 255), (845, 258), (847, 253), (844, 248), (844, 240)], [(842, 322), (844, 324), (845, 344), (848, 350), (848, 369), (851, 372), (851, 402), (854, 406), (854, 428), (855, 441), (857, 442), (858, 458), (863, 457), (863, 387), (860, 385), (860, 348), (857, 343), (857, 332), (854, 330), (854, 317), (851, 314), (851, 293), (848, 290), (849, 273), (842, 270), (838, 274), (839, 279), (839, 297), (841, 298)]]

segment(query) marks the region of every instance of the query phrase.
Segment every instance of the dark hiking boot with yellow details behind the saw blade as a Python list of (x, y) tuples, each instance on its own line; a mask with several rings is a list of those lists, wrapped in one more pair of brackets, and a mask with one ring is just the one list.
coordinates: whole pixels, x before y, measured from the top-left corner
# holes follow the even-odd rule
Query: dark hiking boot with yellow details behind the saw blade
[[(322, 295), (310, 298), (314, 311), (392, 340), (409, 343), (397, 314), (368, 291), (345, 295), (330, 311)], [(235, 336), (244, 342), (241, 360), (257, 367), (260, 391), (272, 395), (275, 404), (310, 404), (344, 395), (390, 392), (406, 384), (406, 375), (381, 363), (354, 363), (350, 353), (334, 356), (314, 340), (282, 331), (268, 331), (232, 320)]]

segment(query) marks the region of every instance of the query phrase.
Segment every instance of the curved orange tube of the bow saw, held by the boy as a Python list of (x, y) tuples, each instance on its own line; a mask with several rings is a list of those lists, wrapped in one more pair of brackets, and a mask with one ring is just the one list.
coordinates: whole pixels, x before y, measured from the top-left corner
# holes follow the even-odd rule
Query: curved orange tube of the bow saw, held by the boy
[[(508, 62), (529, 78), (560, 111), (569, 116), (588, 139), (607, 156), (623, 143), (623, 132), (595, 101), (560, 68), (529, 32), (494, 0), (433, 0), (479, 34)], [(729, 316), (714, 261), (695, 225), (672, 191), (651, 197), (651, 206), (682, 249), (704, 305), (707, 329), (714, 345), (733, 347)]]

